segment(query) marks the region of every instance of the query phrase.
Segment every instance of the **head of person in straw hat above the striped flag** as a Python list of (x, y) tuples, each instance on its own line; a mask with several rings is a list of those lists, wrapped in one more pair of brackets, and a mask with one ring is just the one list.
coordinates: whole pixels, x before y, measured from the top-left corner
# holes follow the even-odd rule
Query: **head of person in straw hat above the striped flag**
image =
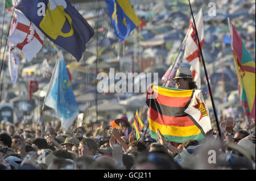
[(191, 70), (188, 68), (177, 69), (174, 83), (177, 89), (191, 90), (197, 89), (196, 82), (193, 82)]

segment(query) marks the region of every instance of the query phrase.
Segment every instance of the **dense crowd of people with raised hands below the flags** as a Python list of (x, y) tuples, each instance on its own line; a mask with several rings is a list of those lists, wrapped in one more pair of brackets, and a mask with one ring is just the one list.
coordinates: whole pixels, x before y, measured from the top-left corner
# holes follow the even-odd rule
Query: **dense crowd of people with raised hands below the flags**
[[(147, 109), (139, 115), (147, 120)], [(242, 129), (229, 117), (220, 123), (221, 134), (213, 127), (204, 141), (183, 143), (167, 142), (159, 130), (154, 140), (147, 129), (137, 140), (125, 115), (81, 127), (74, 122), (68, 131), (57, 120), (1, 121), (0, 169), (255, 169), (255, 121), (251, 121), (250, 127)]]

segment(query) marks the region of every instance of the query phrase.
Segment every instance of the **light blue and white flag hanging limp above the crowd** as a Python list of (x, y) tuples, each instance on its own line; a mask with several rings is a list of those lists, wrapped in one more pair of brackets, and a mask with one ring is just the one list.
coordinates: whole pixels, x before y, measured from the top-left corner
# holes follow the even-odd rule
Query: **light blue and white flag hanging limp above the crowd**
[(44, 104), (55, 109), (56, 117), (61, 120), (61, 127), (65, 130), (71, 126), (79, 115), (79, 108), (61, 52), (53, 70)]

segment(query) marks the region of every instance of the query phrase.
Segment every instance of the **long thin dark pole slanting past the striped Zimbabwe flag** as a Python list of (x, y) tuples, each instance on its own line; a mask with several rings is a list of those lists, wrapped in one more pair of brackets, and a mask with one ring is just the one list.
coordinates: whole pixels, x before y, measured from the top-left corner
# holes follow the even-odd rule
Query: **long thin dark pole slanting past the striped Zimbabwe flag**
[(195, 30), (196, 30), (197, 43), (199, 45), (199, 49), (200, 49), (201, 57), (202, 57), (202, 62), (203, 62), (203, 65), (204, 65), (205, 77), (207, 78), (207, 85), (208, 85), (208, 89), (209, 89), (209, 93), (210, 93), (210, 100), (212, 100), (212, 107), (213, 107), (213, 112), (214, 112), (215, 120), (216, 120), (216, 123), (217, 123), (218, 134), (219, 134), (219, 136), (221, 138), (221, 141), (222, 141), (223, 139), (222, 139), (220, 124), (218, 123), (218, 116), (217, 116), (216, 108), (215, 108), (215, 105), (214, 105), (214, 100), (213, 100), (213, 96), (212, 96), (212, 90), (210, 88), (210, 82), (209, 82), (209, 79), (208, 79), (207, 69), (205, 67), (204, 56), (203, 56), (203, 52), (202, 52), (201, 45), (200, 45), (199, 35), (198, 35), (198, 32), (197, 32), (197, 28), (196, 28), (196, 22), (195, 22), (195, 19), (194, 19), (194, 16), (193, 16), (193, 11), (192, 11), (190, 0), (188, 0), (188, 2), (189, 2), (189, 7), (190, 7), (190, 10), (191, 10), (192, 18), (193, 18), (193, 23), (194, 23)]

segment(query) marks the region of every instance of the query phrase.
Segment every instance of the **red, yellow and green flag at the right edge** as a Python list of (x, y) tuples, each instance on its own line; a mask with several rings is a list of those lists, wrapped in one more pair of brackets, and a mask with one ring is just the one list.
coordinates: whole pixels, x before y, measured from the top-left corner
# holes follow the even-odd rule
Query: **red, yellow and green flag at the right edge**
[(229, 24), (229, 28), (240, 102), (245, 109), (245, 115), (255, 119), (255, 60), (247, 52), (232, 23)]

